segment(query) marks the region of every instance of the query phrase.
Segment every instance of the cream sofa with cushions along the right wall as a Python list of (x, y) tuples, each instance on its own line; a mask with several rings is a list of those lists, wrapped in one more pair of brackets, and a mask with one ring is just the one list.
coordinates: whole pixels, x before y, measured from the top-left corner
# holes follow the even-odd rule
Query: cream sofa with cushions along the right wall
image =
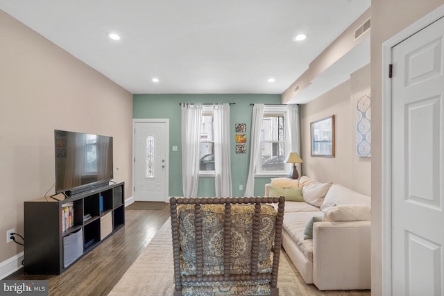
[(265, 193), (286, 197), (282, 247), (307, 284), (370, 289), (369, 196), (307, 176), (272, 179)]

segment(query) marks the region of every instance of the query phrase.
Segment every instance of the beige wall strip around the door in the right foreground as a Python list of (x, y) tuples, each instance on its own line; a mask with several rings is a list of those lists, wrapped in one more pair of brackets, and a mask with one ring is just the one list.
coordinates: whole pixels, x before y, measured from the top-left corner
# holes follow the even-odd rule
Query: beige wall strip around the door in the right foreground
[(372, 295), (382, 295), (382, 44), (427, 15), (443, 0), (373, 0), (371, 29), (372, 96)]

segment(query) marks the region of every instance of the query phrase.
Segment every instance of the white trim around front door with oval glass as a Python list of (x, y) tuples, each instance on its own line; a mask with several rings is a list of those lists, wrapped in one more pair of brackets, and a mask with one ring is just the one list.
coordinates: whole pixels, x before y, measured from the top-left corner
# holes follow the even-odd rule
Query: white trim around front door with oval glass
[(169, 202), (169, 119), (133, 119), (133, 186), (131, 187), (131, 193), (133, 193), (133, 198), (135, 200), (135, 177), (136, 177), (136, 166), (135, 166), (135, 154), (136, 154), (136, 145), (135, 145), (135, 141), (136, 141), (136, 123), (154, 123), (154, 122), (161, 122), (161, 123), (166, 123), (166, 128), (167, 128), (167, 139), (166, 139), (166, 143), (165, 145), (167, 146), (167, 154), (165, 155), (165, 162), (166, 162), (166, 170), (167, 170), (167, 177), (165, 178), (165, 186), (167, 186), (167, 196), (165, 196), (165, 200), (164, 202)]

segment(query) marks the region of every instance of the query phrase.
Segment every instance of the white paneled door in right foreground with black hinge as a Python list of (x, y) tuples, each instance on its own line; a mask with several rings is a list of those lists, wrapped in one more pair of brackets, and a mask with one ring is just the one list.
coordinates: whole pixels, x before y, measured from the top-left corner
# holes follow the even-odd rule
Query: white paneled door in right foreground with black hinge
[(444, 19), (393, 47), (392, 295), (444, 295)]

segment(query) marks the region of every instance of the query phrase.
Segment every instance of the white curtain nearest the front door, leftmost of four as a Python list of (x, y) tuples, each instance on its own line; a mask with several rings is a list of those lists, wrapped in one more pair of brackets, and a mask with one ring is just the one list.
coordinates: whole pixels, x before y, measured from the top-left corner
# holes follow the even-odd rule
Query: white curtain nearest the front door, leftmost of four
[(182, 189), (187, 198), (197, 197), (199, 141), (202, 105), (182, 104)]

